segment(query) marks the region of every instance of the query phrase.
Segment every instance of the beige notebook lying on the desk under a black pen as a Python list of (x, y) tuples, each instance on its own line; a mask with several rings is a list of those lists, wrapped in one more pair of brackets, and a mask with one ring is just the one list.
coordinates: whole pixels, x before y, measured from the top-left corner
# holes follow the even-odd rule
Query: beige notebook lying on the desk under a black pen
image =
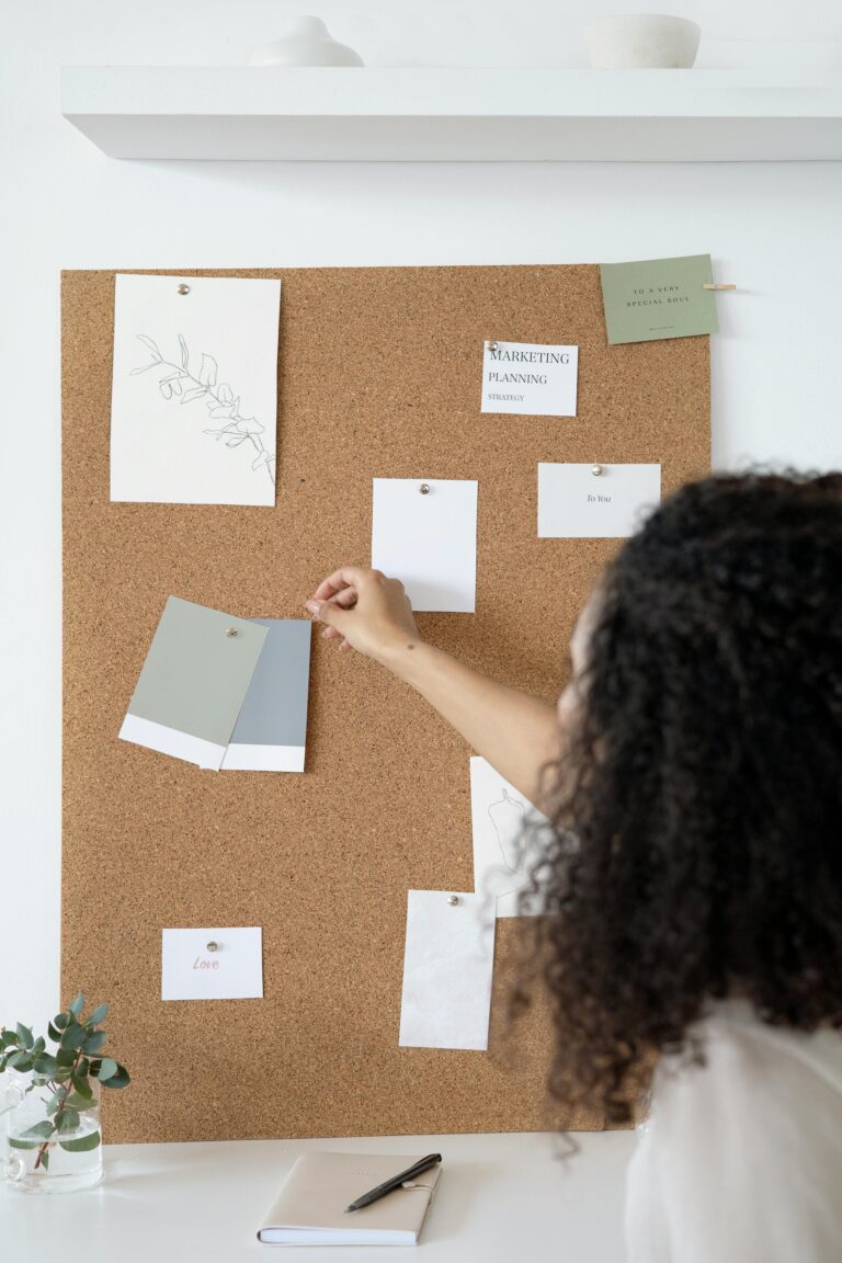
[(442, 1167), (424, 1171), (413, 1188), (396, 1188), (362, 1210), (346, 1206), (423, 1153), (303, 1153), (258, 1229), (270, 1245), (414, 1245)]

